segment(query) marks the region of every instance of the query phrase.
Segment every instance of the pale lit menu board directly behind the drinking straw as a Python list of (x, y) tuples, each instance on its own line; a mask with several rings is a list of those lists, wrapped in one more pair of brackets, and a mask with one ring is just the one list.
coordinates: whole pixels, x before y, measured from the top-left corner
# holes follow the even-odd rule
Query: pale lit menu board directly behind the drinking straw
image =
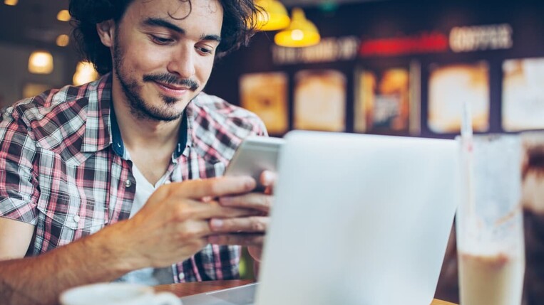
[(428, 128), (438, 134), (460, 132), (463, 103), (468, 101), (473, 130), (488, 131), (489, 91), (489, 68), (485, 61), (430, 65)]

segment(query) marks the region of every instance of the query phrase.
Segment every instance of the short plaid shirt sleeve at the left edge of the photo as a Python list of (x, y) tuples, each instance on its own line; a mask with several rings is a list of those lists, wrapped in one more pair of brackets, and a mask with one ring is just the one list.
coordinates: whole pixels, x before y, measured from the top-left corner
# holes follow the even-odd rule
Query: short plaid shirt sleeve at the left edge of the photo
[(10, 107), (0, 117), (0, 217), (36, 224), (39, 187), (33, 171), (36, 142)]

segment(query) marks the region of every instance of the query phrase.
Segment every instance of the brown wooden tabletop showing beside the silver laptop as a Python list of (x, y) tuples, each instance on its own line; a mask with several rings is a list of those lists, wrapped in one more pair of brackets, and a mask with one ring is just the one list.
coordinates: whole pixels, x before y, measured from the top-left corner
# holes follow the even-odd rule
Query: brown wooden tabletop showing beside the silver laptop
[[(177, 296), (190, 296), (191, 294), (200, 294), (202, 292), (236, 287), (250, 284), (253, 281), (246, 279), (235, 279), (231, 281), (210, 281), (210, 282), (190, 282), (181, 284), (170, 284), (156, 286), (156, 291), (170, 291)], [(431, 305), (455, 305), (450, 302), (434, 299)]]

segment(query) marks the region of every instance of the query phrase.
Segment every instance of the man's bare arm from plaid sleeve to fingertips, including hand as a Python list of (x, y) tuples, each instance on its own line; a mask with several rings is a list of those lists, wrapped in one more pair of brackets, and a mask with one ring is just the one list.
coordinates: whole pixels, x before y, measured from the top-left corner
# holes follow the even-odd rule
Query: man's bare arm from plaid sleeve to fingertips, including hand
[[(2, 305), (56, 304), (65, 289), (108, 282), (143, 267), (165, 267), (194, 255), (207, 244), (210, 218), (240, 218), (255, 210), (222, 207), (214, 198), (247, 193), (255, 188), (250, 177), (224, 177), (161, 186), (133, 218), (37, 257), (0, 262)], [(9, 224), (9, 225), (6, 225)], [(9, 228), (14, 221), (5, 221)], [(16, 224), (17, 225), (17, 224)], [(24, 234), (30, 229), (22, 226)], [(0, 257), (20, 234), (0, 235)], [(26, 239), (31, 238), (26, 234)], [(7, 236), (7, 237), (6, 237)], [(4, 237), (6, 237), (4, 239)], [(24, 255), (25, 243), (13, 251)], [(26, 242), (28, 247), (29, 242)], [(21, 255), (22, 254), (22, 255)]]

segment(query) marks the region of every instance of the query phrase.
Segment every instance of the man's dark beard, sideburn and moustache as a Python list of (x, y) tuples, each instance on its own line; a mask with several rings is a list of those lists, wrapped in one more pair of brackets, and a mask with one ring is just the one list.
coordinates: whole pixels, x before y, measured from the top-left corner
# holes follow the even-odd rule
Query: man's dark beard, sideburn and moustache
[[(130, 80), (128, 75), (121, 72), (123, 66), (123, 49), (120, 47), (118, 37), (115, 37), (115, 46), (113, 47), (113, 65), (116, 70), (116, 77), (118, 78), (121, 88), (125, 93), (126, 102), (130, 107), (130, 113), (138, 119), (148, 119), (157, 122), (170, 122), (175, 119), (179, 119), (183, 110), (175, 112), (175, 104), (179, 101), (173, 97), (160, 95), (160, 98), (166, 105), (166, 108), (155, 107), (146, 103), (143, 97), (140, 95), (141, 86), (138, 85), (136, 80)], [(191, 91), (195, 92), (198, 89), (198, 83), (191, 79), (180, 79), (171, 74), (158, 74), (158, 75), (143, 75), (143, 82), (159, 81), (173, 85), (187, 86)]]

